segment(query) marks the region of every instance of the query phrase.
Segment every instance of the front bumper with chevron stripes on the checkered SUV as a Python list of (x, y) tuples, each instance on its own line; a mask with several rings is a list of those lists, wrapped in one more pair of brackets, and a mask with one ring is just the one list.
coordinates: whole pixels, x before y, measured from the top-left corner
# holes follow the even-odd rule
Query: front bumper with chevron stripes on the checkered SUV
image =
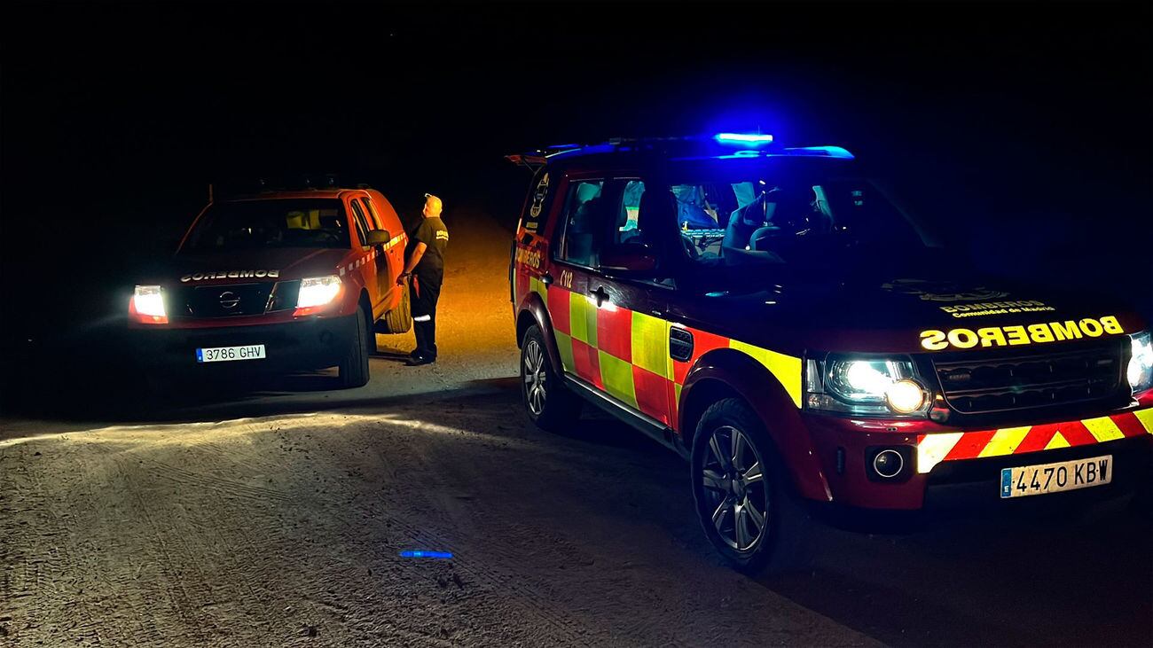
[[(929, 421), (862, 421), (806, 414), (805, 422), (836, 504), (882, 510), (1020, 505), (1107, 498), (1153, 479), (1153, 404), (1083, 420), (958, 430)], [(895, 449), (904, 469), (880, 477), (872, 458)], [(1111, 454), (1113, 482), (1025, 498), (1000, 497), (1001, 469)], [(1011, 504), (1010, 504), (1011, 503)]]

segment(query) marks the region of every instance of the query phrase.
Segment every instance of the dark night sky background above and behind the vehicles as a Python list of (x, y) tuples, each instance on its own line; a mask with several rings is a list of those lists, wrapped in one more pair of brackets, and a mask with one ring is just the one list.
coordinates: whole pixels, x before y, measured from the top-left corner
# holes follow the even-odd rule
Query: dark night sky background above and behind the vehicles
[(1148, 3), (21, 5), (2, 29), (9, 344), (119, 326), (210, 182), (332, 172), (511, 227), (505, 153), (749, 128), (856, 152), (941, 263), (1153, 314)]

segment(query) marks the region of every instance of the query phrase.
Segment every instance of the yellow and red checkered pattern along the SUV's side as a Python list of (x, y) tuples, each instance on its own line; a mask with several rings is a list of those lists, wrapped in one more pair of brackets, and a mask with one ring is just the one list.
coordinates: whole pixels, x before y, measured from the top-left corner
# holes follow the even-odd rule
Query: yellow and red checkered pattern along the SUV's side
[(529, 287), (549, 309), (557, 351), (565, 371), (603, 390), (625, 405), (677, 428), (677, 404), (688, 370), (716, 348), (732, 348), (763, 364), (800, 407), (801, 361), (766, 348), (696, 329), (693, 356), (669, 355), (669, 321), (605, 302), (532, 278)]

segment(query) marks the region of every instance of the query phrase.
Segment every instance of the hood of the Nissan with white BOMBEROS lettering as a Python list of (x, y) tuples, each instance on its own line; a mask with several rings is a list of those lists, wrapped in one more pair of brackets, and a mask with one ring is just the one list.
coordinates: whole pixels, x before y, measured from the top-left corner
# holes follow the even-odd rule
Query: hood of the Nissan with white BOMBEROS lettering
[(333, 274), (346, 249), (274, 248), (206, 255), (180, 254), (151, 274), (160, 284), (231, 284)]

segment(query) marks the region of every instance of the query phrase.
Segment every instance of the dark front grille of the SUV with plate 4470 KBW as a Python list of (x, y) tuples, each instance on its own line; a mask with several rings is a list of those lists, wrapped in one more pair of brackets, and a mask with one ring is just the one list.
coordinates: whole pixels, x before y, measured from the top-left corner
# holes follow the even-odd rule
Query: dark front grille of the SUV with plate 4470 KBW
[(962, 414), (986, 414), (1116, 397), (1123, 375), (1121, 341), (1069, 351), (972, 352), (934, 359), (945, 401)]

